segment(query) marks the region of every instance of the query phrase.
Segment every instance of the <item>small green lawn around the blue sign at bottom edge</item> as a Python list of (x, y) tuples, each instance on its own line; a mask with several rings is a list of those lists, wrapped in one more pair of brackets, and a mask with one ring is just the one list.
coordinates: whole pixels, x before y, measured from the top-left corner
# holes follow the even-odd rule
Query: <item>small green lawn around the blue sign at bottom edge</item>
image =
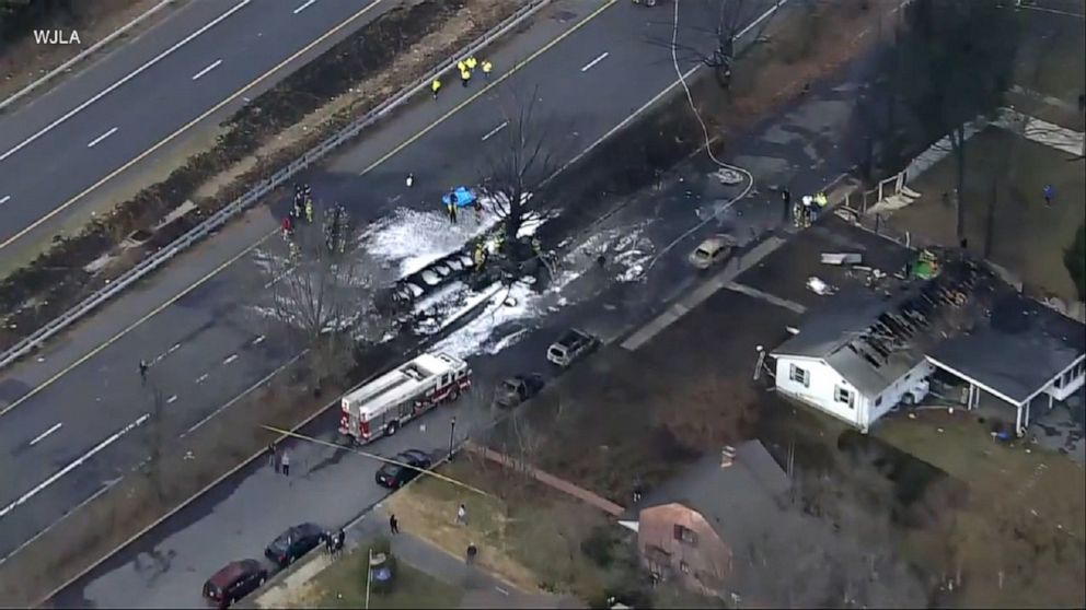
[[(368, 547), (358, 547), (309, 583), (302, 608), (363, 608)], [(457, 608), (464, 591), (406, 562), (396, 562), (392, 590), (370, 593), (370, 608)]]

